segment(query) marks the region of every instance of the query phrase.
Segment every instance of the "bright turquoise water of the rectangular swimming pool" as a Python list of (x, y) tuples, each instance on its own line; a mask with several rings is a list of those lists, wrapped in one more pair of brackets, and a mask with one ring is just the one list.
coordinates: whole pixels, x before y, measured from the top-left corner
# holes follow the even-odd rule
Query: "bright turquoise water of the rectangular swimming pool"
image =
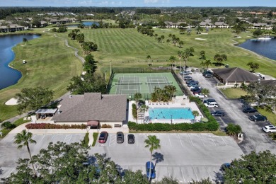
[(150, 120), (193, 120), (190, 108), (149, 108)]

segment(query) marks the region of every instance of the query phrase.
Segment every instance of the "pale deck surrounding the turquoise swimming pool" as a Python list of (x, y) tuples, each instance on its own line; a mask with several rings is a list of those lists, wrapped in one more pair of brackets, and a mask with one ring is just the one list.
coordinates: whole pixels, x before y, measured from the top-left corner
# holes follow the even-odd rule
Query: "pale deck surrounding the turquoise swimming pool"
[[(136, 120), (132, 117), (132, 103), (135, 103), (134, 100), (129, 102), (129, 107), (130, 110), (128, 110), (129, 114), (128, 114), (128, 120), (132, 121), (132, 122), (136, 122)], [(149, 105), (149, 101), (146, 100), (146, 105), (149, 106), (149, 108), (191, 108), (192, 111), (193, 110), (197, 110), (198, 113), (200, 113), (200, 110), (197, 108), (197, 105), (194, 102), (185, 102), (185, 103), (178, 103), (178, 102), (172, 102), (170, 101), (168, 104), (157, 104), (156, 103), (152, 103)], [(139, 112), (139, 110), (138, 110)], [(145, 117), (149, 117), (149, 110), (147, 112), (145, 112)], [(200, 113), (199, 116), (197, 116), (195, 118), (196, 122), (200, 121), (200, 118), (203, 117), (202, 113)], [(191, 122), (191, 120), (149, 120), (149, 122), (143, 122), (143, 120), (139, 120), (138, 119), (138, 123), (154, 123), (154, 122), (163, 122), (163, 123), (181, 123), (181, 122)]]

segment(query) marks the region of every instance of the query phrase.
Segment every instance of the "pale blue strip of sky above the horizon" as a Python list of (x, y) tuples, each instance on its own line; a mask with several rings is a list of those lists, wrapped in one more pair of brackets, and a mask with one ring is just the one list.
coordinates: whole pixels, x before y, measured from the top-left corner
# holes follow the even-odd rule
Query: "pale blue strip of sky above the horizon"
[(0, 6), (276, 6), (276, 0), (0, 0)]

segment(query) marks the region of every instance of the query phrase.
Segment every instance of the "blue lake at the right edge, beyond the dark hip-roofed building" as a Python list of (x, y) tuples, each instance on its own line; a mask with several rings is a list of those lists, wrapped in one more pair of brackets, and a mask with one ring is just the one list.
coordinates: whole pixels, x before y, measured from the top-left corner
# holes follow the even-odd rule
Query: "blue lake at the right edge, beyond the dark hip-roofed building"
[(238, 47), (243, 47), (264, 57), (276, 60), (276, 38), (272, 38), (271, 40), (251, 39), (238, 45)]

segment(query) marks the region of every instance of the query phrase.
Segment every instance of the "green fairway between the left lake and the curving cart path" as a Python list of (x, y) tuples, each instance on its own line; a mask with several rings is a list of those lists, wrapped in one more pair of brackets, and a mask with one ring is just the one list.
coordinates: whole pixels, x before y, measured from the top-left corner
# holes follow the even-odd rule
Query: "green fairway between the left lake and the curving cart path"
[[(35, 30), (32, 33), (42, 33)], [(43, 86), (54, 91), (54, 97), (64, 95), (72, 76), (81, 74), (82, 66), (74, 57), (74, 50), (66, 47), (64, 40), (54, 38), (52, 34), (42, 33), (40, 38), (29, 40), (28, 45), (19, 43), (13, 47), (16, 58), (11, 62), (13, 67), (23, 74), (18, 84), (0, 90), (0, 120), (17, 115), (16, 105), (4, 105), (22, 88)], [(27, 64), (22, 64), (25, 59)]]

